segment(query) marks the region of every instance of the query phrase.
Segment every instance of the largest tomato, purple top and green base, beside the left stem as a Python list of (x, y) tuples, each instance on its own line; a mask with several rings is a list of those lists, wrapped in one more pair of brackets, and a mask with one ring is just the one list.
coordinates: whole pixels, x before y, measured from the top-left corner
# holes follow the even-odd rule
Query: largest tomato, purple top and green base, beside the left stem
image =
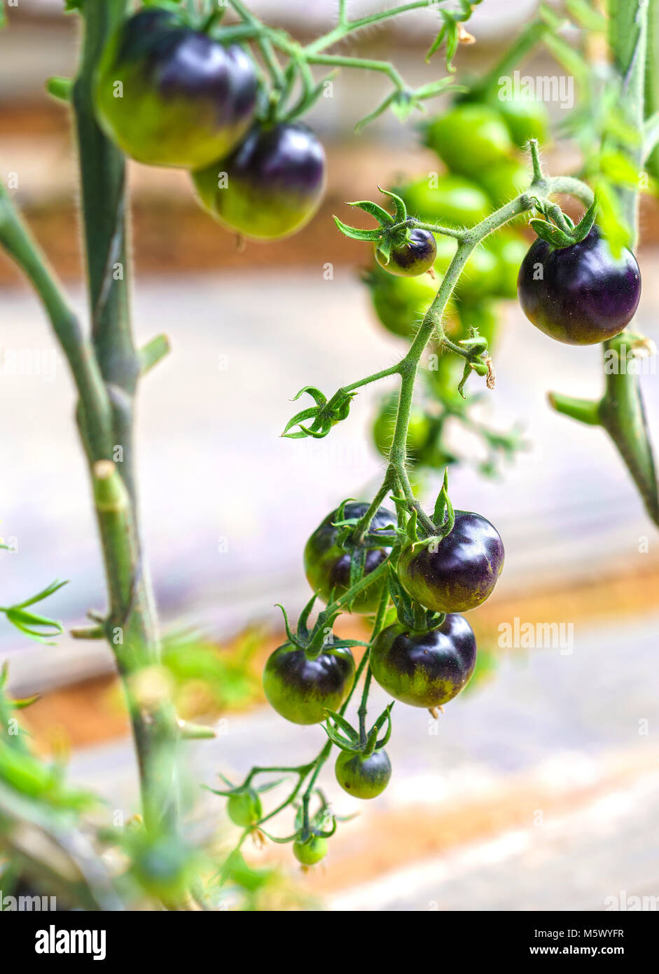
[(185, 169), (232, 151), (252, 124), (256, 93), (253, 65), (238, 45), (225, 48), (158, 9), (118, 27), (94, 88), (99, 123), (124, 152)]

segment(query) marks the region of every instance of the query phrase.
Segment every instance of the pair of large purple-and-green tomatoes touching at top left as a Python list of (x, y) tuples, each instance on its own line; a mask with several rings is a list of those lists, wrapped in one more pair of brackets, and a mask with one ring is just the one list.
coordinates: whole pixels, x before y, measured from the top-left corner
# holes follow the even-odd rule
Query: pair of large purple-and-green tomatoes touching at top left
[(118, 27), (95, 85), (98, 121), (128, 156), (189, 169), (201, 205), (219, 223), (278, 240), (317, 209), (325, 154), (307, 126), (259, 119), (259, 95), (242, 47), (163, 8)]

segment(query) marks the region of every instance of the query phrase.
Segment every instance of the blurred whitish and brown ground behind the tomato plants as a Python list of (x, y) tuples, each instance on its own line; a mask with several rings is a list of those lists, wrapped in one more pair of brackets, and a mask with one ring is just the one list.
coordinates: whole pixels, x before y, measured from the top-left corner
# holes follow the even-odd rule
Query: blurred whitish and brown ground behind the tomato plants
[[(305, 39), (329, 27), (336, 5), (283, 6), (251, 4)], [(486, 0), (469, 21), (476, 43), (460, 49), (458, 77), (486, 70), (535, 8)], [(73, 71), (76, 19), (50, 0), (21, 3), (9, 19), (0, 33), (0, 175), (18, 174), (18, 200), (84, 315), (69, 122), (44, 94), (46, 78)], [(427, 11), (397, 19), (360, 37), (354, 51), (393, 60), (421, 85), (443, 71), (424, 63), (436, 23)], [(535, 76), (563, 72), (544, 50), (520, 66)], [(309, 597), (302, 549), (311, 531), (342, 499), (368, 497), (379, 483), (384, 460), (372, 427), (383, 389), (361, 392), (348, 421), (325, 439), (280, 432), (302, 386), (329, 395), (405, 348), (379, 324), (360, 280), (365, 245), (343, 238), (331, 219), (349, 222), (345, 201), (376, 199), (378, 184), (438, 167), (414, 118), (401, 124), (386, 114), (355, 135), (355, 122), (385, 93), (373, 73), (346, 71), (313, 109), (328, 191), (311, 224), (281, 244), (238, 250), (195, 204), (185, 173), (130, 165), (135, 330), (140, 344), (165, 332), (172, 347), (141, 387), (144, 536), (165, 628), (194, 626), (206, 637), (198, 647), (205, 684), (186, 684), (186, 654), (175, 641), (170, 650), (182, 709), (219, 721), (218, 738), (194, 752), (208, 783), (218, 770), (238, 779), (257, 760), (304, 761), (322, 742), (319, 728), (286, 725), (264, 707), (259, 670), (281, 641), (275, 602), (295, 616)], [(559, 123), (561, 106), (546, 107)], [(554, 140), (545, 158), (559, 173), (573, 171), (579, 157), (571, 142)], [(635, 329), (657, 341), (656, 200), (643, 200), (641, 231)], [(13, 549), (1, 562), (0, 597), (10, 604), (35, 585), (66, 579), (48, 610), (66, 626), (82, 624), (88, 609), (103, 609), (104, 581), (71, 383), (36, 299), (4, 258), (0, 287), (0, 350), (30, 354), (33, 363), (31, 374), (0, 371), (0, 533)], [(526, 448), (486, 477), (482, 443), (455, 431), (466, 460), (451, 476), (454, 504), (492, 520), (506, 546), (494, 596), (470, 617), (482, 663), (438, 723), (425, 711), (397, 709), (391, 785), (341, 826), (326, 869), (300, 880), (319, 907), (603, 910), (611, 897), (659, 895), (656, 528), (604, 432), (546, 403), (548, 390), (598, 396), (600, 350), (549, 341), (514, 301), (500, 302), (497, 315), (496, 388), (479, 416), (493, 430), (518, 424)], [(657, 442), (656, 358), (644, 367)], [(429, 505), (441, 475), (416, 477)], [(559, 623), (571, 636), (563, 647), (499, 645), (501, 626), (516, 618)], [(359, 637), (357, 622), (342, 624)], [(73, 777), (113, 807), (134, 808), (109, 651), (67, 636), (56, 646), (27, 644), (5, 626), (0, 656), (11, 660), (15, 693), (43, 694), (25, 714), (40, 749), (67, 740)], [(384, 706), (378, 688), (373, 701)], [(331, 767), (324, 783), (337, 811), (357, 810)], [(218, 800), (201, 802), (201, 829), (214, 827), (219, 808)], [(264, 856), (291, 869), (288, 850), (254, 853), (254, 861)]]

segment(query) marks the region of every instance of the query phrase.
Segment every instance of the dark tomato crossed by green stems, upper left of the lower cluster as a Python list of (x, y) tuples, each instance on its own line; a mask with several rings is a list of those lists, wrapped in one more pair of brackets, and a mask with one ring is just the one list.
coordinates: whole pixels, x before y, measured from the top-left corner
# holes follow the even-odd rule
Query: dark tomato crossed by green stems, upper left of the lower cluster
[[(367, 504), (350, 503), (344, 507), (344, 516), (345, 518), (359, 518), (366, 513), (367, 509)], [(337, 520), (338, 513), (338, 510), (333, 510), (331, 514), (328, 514), (305, 545), (304, 560), (307, 581), (323, 602), (329, 602), (332, 590), (334, 590), (335, 597), (338, 597), (350, 587), (350, 563), (354, 557), (354, 547), (351, 550), (345, 550), (337, 543), (339, 529), (334, 527), (333, 522)], [(385, 507), (381, 507), (371, 522), (369, 534), (374, 534), (377, 529), (384, 529), (389, 525), (395, 525), (395, 523), (396, 515)], [(391, 542), (393, 540), (394, 536), (391, 533)], [(364, 575), (368, 575), (369, 572), (382, 564), (390, 552), (390, 546), (369, 548), (366, 552)], [(383, 583), (378, 581), (363, 589), (356, 596), (350, 611), (366, 616), (377, 612)]]

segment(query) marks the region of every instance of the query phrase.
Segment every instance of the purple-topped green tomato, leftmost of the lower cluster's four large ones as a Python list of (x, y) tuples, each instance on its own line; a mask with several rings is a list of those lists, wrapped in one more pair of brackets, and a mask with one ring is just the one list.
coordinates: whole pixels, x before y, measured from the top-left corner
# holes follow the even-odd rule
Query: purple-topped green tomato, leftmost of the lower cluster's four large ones
[(263, 689), (278, 714), (293, 724), (319, 724), (325, 708), (338, 710), (354, 680), (354, 659), (346, 647), (328, 647), (311, 659), (284, 643), (269, 656)]

